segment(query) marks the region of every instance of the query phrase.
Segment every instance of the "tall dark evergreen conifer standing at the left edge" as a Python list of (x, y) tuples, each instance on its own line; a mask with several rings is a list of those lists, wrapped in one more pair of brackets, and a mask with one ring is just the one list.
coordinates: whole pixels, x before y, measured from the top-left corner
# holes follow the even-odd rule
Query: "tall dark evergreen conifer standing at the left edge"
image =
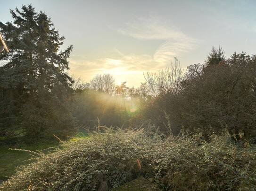
[(44, 12), (32, 5), (10, 10), (13, 22), (1, 23), (10, 53), (0, 67), (0, 130), (38, 138), (74, 131), (69, 108), (73, 83), (66, 73), (72, 46), (60, 51), (64, 37)]

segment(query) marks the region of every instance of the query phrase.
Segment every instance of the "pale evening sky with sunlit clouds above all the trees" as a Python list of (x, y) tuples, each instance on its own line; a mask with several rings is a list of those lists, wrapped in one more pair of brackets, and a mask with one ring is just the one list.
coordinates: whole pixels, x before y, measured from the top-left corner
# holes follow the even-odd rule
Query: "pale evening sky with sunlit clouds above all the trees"
[(85, 82), (112, 74), (138, 87), (143, 74), (165, 69), (174, 57), (182, 68), (203, 63), (212, 47), (226, 55), (256, 53), (255, 0), (0, 0), (9, 9), (32, 4), (50, 16), (65, 49), (74, 45), (69, 74)]

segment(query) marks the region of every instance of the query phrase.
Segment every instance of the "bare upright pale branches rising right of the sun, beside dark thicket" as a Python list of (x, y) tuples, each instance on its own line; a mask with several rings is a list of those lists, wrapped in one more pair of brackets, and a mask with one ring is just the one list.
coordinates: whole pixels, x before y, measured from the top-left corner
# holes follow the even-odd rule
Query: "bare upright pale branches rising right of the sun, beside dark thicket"
[(177, 90), (179, 83), (182, 80), (183, 69), (180, 61), (174, 57), (174, 63), (166, 69), (158, 71), (158, 73), (147, 72), (144, 74), (148, 84), (149, 92), (153, 96), (157, 96), (163, 92), (174, 92)]

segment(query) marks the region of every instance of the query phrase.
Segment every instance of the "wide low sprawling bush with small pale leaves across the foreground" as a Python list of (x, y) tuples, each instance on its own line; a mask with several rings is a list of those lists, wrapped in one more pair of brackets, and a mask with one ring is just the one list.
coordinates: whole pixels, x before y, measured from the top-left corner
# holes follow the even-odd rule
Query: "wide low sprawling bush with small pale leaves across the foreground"
[(255, 191), (256, 147), (223, 137), (210, 143), (106, 129), (38, 155), (0, 186), (2, 191), (107, 191), (139, 176), (162, 190)]

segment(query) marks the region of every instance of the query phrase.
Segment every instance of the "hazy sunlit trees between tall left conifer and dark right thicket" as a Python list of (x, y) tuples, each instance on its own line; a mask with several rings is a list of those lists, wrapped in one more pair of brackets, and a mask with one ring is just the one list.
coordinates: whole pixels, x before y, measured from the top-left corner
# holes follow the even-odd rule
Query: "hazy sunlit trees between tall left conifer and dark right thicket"
[[(107, 80), (106, 80), (107, 79)], [(74, 79), (74, 117), (78, 126), (95, 130), (99, 125), (124, 127), (132, 126), (132, 119), (149, 99), (146, 84), (129, 88), (126, 82), (115, 84), (114, 76), (95, 76), (90, 83), (81, 78)]]

